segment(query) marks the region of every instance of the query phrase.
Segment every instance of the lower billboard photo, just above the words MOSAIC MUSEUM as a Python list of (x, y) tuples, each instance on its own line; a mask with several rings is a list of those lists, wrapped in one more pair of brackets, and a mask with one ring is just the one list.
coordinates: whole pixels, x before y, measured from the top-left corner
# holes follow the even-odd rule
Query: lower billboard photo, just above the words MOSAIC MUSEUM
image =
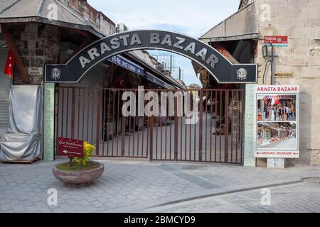
[(260, 122), (257, 124), (258, 150), (297, 150), (297, 123)]

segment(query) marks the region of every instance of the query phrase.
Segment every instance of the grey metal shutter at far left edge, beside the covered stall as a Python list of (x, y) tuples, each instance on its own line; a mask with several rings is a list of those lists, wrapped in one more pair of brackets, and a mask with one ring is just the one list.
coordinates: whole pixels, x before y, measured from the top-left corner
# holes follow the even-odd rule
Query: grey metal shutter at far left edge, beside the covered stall
[(9, 86), (11, 79), (4, 74), (8, 48), (0, 48), (0, 138), (8, 131), (9, 123)]

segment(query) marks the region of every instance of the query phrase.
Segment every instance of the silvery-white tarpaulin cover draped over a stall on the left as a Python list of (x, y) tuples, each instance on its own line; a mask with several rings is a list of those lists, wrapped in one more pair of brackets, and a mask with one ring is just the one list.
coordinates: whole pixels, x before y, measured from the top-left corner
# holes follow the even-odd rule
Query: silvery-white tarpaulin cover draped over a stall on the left
[(0, 139), (0, 160), (33, 161), (41, 158), (41, 87), (10, 87), (9, 128)]

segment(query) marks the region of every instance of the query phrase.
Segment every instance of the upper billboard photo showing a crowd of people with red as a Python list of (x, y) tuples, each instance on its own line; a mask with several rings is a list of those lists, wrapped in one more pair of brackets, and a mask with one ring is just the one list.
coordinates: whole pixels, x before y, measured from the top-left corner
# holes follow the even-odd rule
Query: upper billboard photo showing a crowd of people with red
[(297, 95), (257, 95), (257, 121), (297, 121)]

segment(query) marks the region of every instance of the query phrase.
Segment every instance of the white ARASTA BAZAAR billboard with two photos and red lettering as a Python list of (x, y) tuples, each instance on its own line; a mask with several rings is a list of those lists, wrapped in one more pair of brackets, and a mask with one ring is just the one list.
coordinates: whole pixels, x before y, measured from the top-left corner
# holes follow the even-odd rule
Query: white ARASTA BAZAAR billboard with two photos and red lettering
[(299, 158), (299, 86), (255, 89), (255, 157)]

